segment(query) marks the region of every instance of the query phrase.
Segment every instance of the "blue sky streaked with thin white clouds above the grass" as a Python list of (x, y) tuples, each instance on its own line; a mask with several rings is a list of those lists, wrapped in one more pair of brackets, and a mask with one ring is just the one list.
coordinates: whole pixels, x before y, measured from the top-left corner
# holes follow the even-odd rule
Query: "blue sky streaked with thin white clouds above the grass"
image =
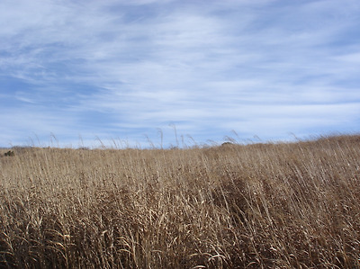
[(358, 0), (2, 0), (0, 147), (360, 131)]

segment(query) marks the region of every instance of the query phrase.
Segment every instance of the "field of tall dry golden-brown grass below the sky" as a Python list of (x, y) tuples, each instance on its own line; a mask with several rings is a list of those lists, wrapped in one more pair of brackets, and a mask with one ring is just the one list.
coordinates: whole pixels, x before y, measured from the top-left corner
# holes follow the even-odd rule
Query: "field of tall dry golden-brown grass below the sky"
[(12, 150), (0, 268), (360, 268), (360, 136)]

